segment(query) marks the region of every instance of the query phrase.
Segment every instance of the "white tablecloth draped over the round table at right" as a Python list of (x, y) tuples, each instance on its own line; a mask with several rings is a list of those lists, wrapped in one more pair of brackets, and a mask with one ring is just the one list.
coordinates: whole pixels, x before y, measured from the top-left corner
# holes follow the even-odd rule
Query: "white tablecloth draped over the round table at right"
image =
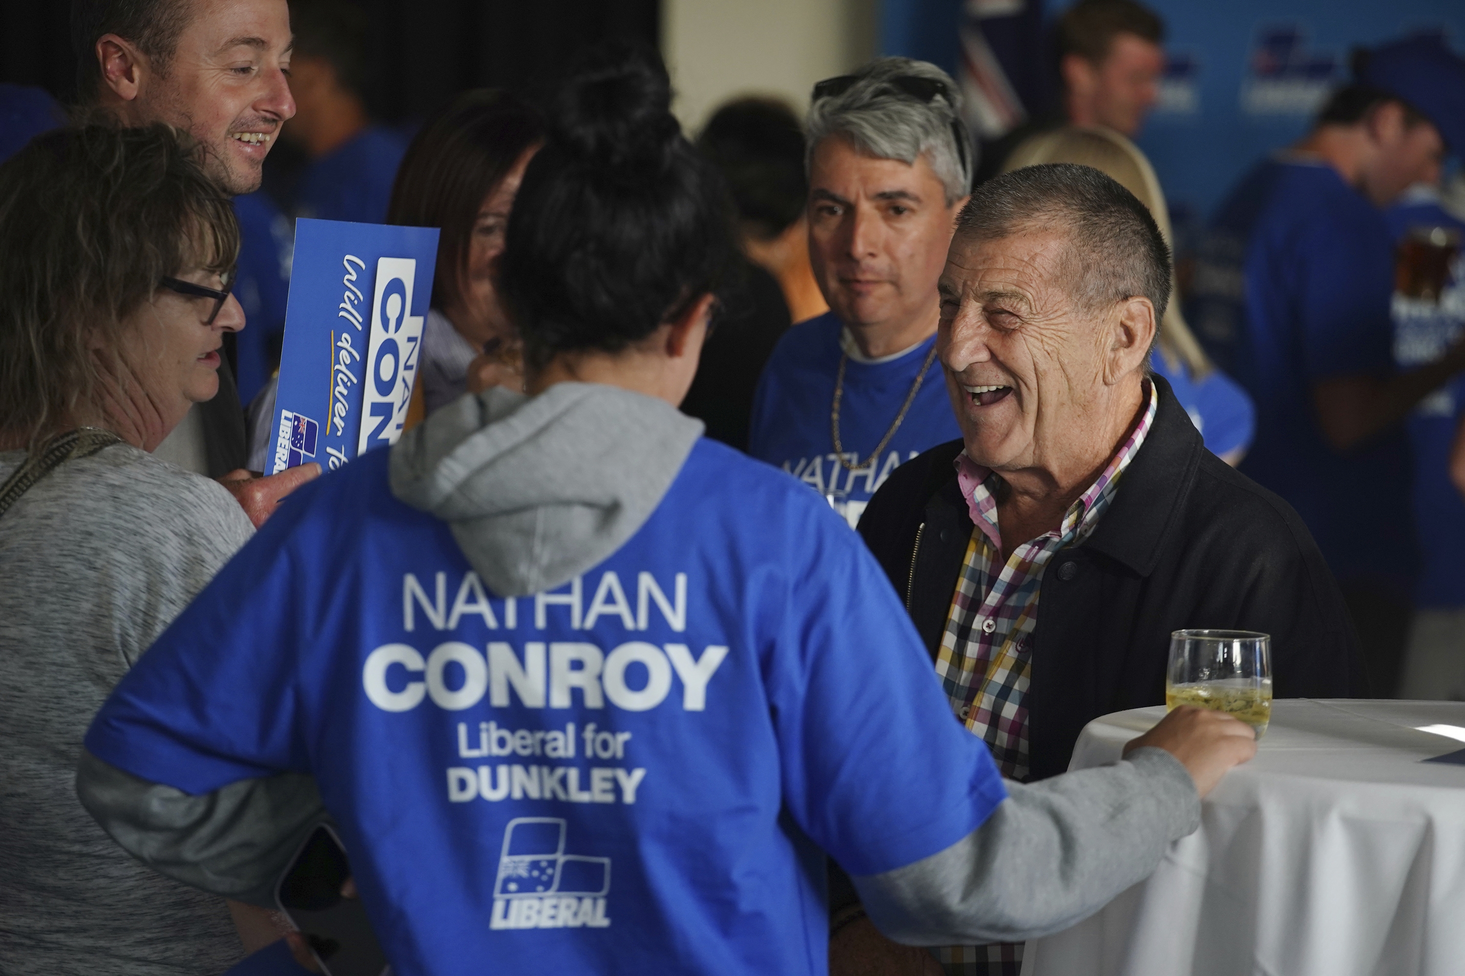
[[(1075, 770), (1119, 758), (1165, 708), (1097, 718)], [(1257, 757), (1206, 797), (1198, 831), (1067, 932), (1027, 944), (1024, 976), (1465, 973), (1465, 748), (1418, 726), (1465, 704), (1273, 704)]]

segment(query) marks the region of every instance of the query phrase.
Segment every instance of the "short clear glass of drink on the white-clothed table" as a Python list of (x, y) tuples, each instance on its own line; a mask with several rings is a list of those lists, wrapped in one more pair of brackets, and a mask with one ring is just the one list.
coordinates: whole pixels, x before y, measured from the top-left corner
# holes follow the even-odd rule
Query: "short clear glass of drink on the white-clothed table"
[(1254, 631), (1175, 631), (1165, 708), (1200, 705), (1257, 732), (1272, 720), (1272, 637)]

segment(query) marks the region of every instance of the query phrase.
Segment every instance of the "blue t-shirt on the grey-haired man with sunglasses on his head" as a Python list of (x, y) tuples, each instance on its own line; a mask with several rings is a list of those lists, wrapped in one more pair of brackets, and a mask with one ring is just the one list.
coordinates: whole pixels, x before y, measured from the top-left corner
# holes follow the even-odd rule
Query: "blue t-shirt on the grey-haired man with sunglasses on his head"
[(946, 395), (941, 361), (932, 360), (905, 420), (880, 452), (870, 452), (895, 423), (916, 375), (936, 337), (900, 359), (844, 367), (839, 402), (839, 446), (845, 459), (861, 464), (850, 471), (834, 452), (831, 416), (839, 372), (839, 334), (834, 312), (800, 322), (774, 348), (753, 397), (749, 454), (778, 465), (829, 499), (854, 525), (870, 496), (897, 467), (921, 451), (961, 436)]

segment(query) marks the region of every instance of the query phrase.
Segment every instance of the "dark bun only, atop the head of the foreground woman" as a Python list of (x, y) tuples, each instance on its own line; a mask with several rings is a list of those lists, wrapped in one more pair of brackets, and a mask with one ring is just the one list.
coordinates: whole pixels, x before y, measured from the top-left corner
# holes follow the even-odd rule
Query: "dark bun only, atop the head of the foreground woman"
[(551, 138), (602, 165), (664, 162), (681, 138), (661, 59), (630, 41), (599, 44), (560, 91)]

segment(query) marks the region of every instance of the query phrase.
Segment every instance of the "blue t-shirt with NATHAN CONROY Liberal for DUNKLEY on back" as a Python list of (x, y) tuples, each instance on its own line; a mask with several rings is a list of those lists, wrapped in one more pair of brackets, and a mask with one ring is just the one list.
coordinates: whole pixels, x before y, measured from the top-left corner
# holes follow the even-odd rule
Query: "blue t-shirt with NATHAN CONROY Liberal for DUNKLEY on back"
[(1005, 796), (787, 476), (702, 439), (609, 559), (504, 600), (387, 465), (286, 499), (86, 748), (189, 793), (314, 774), (394, 972), (823, 973), (822, 852), (891, 871)]

